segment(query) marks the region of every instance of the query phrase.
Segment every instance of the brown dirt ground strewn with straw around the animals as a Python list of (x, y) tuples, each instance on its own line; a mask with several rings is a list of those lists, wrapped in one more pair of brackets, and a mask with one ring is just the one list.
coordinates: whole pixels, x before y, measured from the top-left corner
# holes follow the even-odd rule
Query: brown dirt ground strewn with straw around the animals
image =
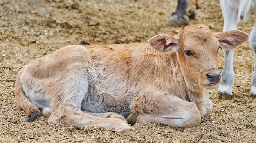
[[(195, 20), (214, 32), (223, 28), (218, 0), (200, 0)], [(249, 42), (235, 51), (235, 85), (231, 100), (211, 93), (213, 113), (195, 128), (136, 123), (136, 135), (93, 126), (77, 128), (48, 123), (46, 117), (26, 122), (17, 108), (14, 83), (19, 69), (45, 54), (72, 44), (146, 43), (159, 33), (175, 35), (178, 27), (162, 27), (177, 0), (0, 0), (0, 142), (24, 143), (255, 143), (256, 99), (249, 97), (254, 56)], [(254, 17), (238, 29), (250, 32)], [(223, 51), (219, 52), (219, 68)]]

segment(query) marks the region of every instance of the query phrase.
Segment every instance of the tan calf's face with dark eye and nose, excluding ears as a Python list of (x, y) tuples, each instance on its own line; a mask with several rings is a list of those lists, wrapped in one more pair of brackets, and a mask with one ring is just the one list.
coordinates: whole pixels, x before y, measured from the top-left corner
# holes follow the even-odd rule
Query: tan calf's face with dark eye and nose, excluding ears
[(185, 29), (179, 35), (180, 49), (177, 59), (188, 77), (202, 87), (213, 89), (222, 81), (218, 70), (218, 39), (209, 28), (196, 26)]

